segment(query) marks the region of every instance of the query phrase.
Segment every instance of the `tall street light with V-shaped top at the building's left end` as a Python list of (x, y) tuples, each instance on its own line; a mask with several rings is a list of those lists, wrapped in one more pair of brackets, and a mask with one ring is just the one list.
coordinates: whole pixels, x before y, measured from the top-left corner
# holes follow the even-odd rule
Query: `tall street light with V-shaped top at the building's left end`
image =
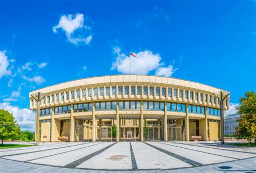
[(39, 145), (39, 102), (44, 98), (45, 94), (42, 92), (33, 93), (31, 97), (36, 100), (36, 125), (35, 125), (35, 142)]

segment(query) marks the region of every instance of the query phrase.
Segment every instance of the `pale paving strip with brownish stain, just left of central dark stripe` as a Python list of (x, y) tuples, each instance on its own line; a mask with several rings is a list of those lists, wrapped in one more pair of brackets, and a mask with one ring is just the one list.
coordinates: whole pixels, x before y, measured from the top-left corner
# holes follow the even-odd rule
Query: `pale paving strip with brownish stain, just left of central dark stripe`
[(78, 165), (76, 168), (111, 170), (132, 169), (130, 142), (118, 142), (116, 145), (113, 145), (103, 153)]

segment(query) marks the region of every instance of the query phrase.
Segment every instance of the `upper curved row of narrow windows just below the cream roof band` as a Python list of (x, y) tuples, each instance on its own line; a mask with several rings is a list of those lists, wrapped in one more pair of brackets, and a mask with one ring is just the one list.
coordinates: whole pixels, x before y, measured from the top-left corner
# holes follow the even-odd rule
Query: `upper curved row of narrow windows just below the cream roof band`
[[(110, 87), (106, 87), (106, 96), (110, 96), (110, 95), (117, 95), (117, 90), (118, 90), (118, 95), (123, 95), (123, 86), (112, 86), (112, 92), (110, 90)], [(142, 90), (143, 90), (143, 95), (149, 95), (153, 96), (160, 96), (160, 87), (156, 87), (156, 92), (154, 93), (154, 87), (150, 86), (149, 88), (147, 86), (137, 86), (137, 95), (142, 95)], [(77, 98), (80, 98), (81, 96), (83, 98), (85, 98), (86, 96), (88, 97), (92, 97), (92, 96), (104, 96), (104, 88), (103, 87), (99, 87), (99, 88), (95, 88), (93, 89), (93, 93), (92, 93), (92, 89), (88, 89), (86, 91), (86, 89), (82, 90), (82, 93), (80, 93), (80, 90), (77, 90)], [(167, 90), (167, 96), (168, 97), (173, 97), (173, 98), (177, 98), (177, 89), (173, 90), (173, 96), (172, 96), (172, 89), (168, 88)], [(190, 99), (193, 100), (197, 100), (197, 101), (201, 101), (203, 102), (203, 93), (200, 93), (200, 95), (198, 95), (197, 92), (194, 93), (193, 92), (189, 92), (189, 91), (185, 91), (183, 92), (183, 90), (179, 90), (179, 98), (185, 98), (188, 99), (188, 94), (190, 95)], [(64, 95), (65, 93), (58, 93), (55, 98), (55, 95), (52, 95), (52, 102), (55, 102), (55, 99), (57, 102), (59, 102), (60, 100), (64, 100)], [(129, 86), (124, 86), (124, 95), (129, 95)], [(131, 86), (131, 95), (136, 95), (136, 86)], [(161, 88), (161, 96), (166, 96), (166, 88)], [(193, 98), (194, 97), (194, 98)], [(219, 98), (216, 98), (215, 96), (209, 96), (208, 97), (208, 102), (212, 103), (212, 97), (213, 97), (213, 103), (219, 104)], [(70, 99), (70, 92), (66, 92), (66, 100)], [(75, 91), (71, 91), (71, 99), (75, 99)], [(43, 103), (46, 104), (46, 100), (47, 103), (50, 103), (50, 96), (45, 96), (45, 98), (43, 99)], [(207, 102), (207, 95), (205, 94), (204, 97), (204, 102)]]

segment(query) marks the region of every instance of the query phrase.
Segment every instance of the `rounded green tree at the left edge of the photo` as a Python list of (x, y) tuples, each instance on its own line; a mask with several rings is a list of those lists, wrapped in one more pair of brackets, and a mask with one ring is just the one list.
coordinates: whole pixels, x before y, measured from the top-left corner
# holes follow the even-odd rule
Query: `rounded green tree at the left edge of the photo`
[(12, 113), (0, 109), (0, 140), (9, 140), (16, 138), (21, 133), (19, 126)]

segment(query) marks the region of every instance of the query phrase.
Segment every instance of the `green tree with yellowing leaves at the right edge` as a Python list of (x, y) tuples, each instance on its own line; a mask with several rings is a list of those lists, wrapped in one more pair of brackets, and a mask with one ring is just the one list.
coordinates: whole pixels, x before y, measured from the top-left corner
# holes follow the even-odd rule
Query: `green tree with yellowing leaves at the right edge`
[(256, 95), (253, 91), (247, 91), (245, 97), (240, 98), (240, 106), (237, 107), (240, 118), (236, 128), (236, 136), (238, 139), (246, 139), (248, 145), (254, 139), (255, 142), (255, 122), (256, 122)]

